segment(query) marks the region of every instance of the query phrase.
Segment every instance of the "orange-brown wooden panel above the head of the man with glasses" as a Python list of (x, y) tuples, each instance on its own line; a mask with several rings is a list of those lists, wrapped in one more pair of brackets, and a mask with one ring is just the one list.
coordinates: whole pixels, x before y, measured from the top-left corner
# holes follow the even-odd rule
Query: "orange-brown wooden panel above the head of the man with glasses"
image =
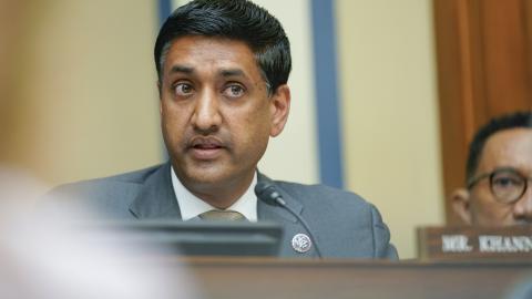
[(523, 0), (477, 0), (481, 13), (483, 80), (489, 118), (531, 107), (530, 53), (526, 51), (526, 16)]

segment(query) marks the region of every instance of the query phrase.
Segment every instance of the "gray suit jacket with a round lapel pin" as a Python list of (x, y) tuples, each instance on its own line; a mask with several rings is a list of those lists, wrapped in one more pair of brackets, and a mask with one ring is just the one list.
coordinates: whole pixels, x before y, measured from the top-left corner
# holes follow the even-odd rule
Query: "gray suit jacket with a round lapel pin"
[[(377, 208), (359, 196), (323, 185), (301, 185), (270, 181), (259, 174), (258, 181), (272, 182), (286, 204), (303, 217), (324, 257), (390, 258), (397, 250), (389, 243), (390, 233)], [(111, 219), (181, 219), (171, 179), (170, 163), (117, 176), (60, 186), (51, 195), (68, 195), (70, 203), (88, 205)], [(314, 246), (305, 254), (291, 247), (291, 238), (308, 235), (286, 209), (258, 200), (259, 220), (283, 225), (282, 257), (314, 257)]]

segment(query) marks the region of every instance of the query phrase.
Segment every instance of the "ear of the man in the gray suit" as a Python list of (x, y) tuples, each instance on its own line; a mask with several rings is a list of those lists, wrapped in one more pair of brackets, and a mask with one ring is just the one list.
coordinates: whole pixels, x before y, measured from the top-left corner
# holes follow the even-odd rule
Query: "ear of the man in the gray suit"
[(290, 89), (288, 85), (278, 86), (270, 101), (272, 128), (269, 135), (275, 137), (283, 132), (290, 112)]

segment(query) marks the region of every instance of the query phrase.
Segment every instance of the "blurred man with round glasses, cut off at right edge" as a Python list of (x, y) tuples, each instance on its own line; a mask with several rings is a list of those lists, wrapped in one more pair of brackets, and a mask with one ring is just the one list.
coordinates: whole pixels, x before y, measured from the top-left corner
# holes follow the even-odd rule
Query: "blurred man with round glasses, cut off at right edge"
[(493, 118), (477, 132), (466, 186), (452, 195), (466, 224), (532, 224), (532, 112)]

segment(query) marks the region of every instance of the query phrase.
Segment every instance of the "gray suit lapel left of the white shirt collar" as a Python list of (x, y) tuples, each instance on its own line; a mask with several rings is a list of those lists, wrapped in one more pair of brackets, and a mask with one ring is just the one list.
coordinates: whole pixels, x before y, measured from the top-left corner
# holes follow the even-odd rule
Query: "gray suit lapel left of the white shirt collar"
[(163, 164), (146, 178), (131, 204), (130, 212), (140, 219), (181, 219), (180, 206), (172, 187), (170, 163)]

